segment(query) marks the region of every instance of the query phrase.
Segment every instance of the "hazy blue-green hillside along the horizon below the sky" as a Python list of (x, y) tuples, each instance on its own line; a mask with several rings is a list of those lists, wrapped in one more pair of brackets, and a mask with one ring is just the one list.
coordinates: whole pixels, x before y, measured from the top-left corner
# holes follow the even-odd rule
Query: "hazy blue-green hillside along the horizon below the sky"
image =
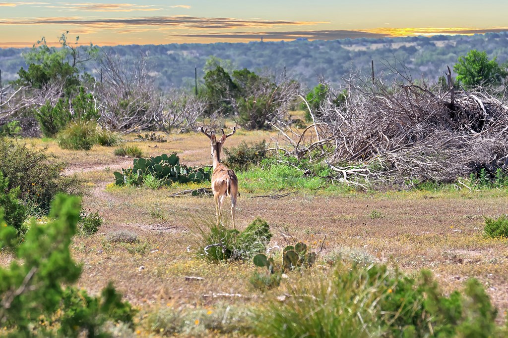
[[(397, 37), (384, 39), (344, 39), (334, 41), (296, 40), (291, 42), (250, 42), (215, 44), (129, 45), (102, 47), (105, 52), (117, 53), (129, 62), (146, 56), (151, 76), (161, 88), (192, 87), (194, 68), (198, 78), (204, 76), (203, 67), (210, 56), (231, 60), (234, 68), (269, 71), (311, 87), (325, 78), (339, 83), (353, 72), (369, 76), (371, 60), (375, 72), (390, 76), (391, 64), (407, 70), (413, 78), (435, 81), (446, 65), (453, 66), (457, 58), (469, 50), (486, 51), (499, 63), (508, 59), (508, 32), (485, 35), (437, 35), (433, 37)], [(0, 69), (3, 81), (16, 78), (20, 67), (26, 67), (22, 53), (28, 49), (0, 49)], [(88, 62), (85, 70), (100, 78), (99, 65)]]

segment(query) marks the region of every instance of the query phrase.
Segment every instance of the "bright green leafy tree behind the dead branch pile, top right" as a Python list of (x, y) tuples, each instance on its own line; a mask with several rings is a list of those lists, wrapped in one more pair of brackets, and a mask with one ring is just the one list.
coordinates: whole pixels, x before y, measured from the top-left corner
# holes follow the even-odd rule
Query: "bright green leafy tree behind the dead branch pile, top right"
[(457, 73), (457, 80), (466, 88), (501, 84), (503, 71), (495, 58), (489, 60), (486, 52), (473, 49), (466, 56), (459, 56), (453, 69)]

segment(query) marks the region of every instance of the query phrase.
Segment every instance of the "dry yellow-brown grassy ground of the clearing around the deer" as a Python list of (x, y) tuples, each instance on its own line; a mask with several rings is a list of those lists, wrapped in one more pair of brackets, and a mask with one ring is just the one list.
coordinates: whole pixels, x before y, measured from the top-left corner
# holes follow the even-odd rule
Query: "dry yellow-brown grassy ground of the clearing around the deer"
[[(229, 145), (259, 141), (274, 134), (237, 132)], [(171, 134), (167, 143), (138, 142), (147, 155), (176, 151), (182, 163), (210, 162), (208, 140), (199, 134)], [(231, 142), (230, 142), (231, 140)], [(254, 290), (248, 280), (252, 264), (210, 265), (196, 259), (187, 248), (194, 243), (194, 221), (214, 217), (210, 198), (170, 198), (183, 190), (173, 186), (156, 191), (146, 188), (112, 186), (114, 170), (127, 167), (131, 159), (118, 159), (112, 148), (95, 146), (89, 152), (65, 151), (50, 141), (30, 140), (48, 146), (58, 157), (69, 161), (69, 173), (88, 181), (84, 208), (104, 217), (99, 233), (75, 239), (74, 258), (83, 264), (79, 286), (98, 292), (109, 280), (143, 313), (170, 307), (207, 308), (227, 302), (253, 305), (270, 294)], [(157, 147), (155, 147), (155, 145)], [(320, 246), (326, 236), (322, 257), (337, 251), (355, 250), (379, 261), (411, 272), (427, 268), (434, 272), (446, 291), (462, 286), (468, 277), (486, 285), (500, 314), (508, 308), (508, 240), (485, 239), (483, 216), (506, 213), (507, 191), (487, 192), (387, 192), (313, 193), (300, 192), (279, 200), (251, 199), (256, 192), (242, 191), (237, 206), (237, 227), (243, 229), (255, 217), (266, 219), (274, 234), (270, 243), (294, 241)], [(228, 203), (228, 201), (226, 201)], [(381, 217), (371, 217), (373, 210)], [(230, 219), (227, 218), (228, 224)], [(137, 234), (135, 243), (117, 243), (107, 234), (119, 231)], [(294, 242), (291, 240), (291, 242)], [(0, 264), (9, 257), (0, 253)], [(315, 268), (322, 273), (325, 266)], [(187, 281), (185, 276), (203, 277)], [(290, 281), (298, 276), (290, 276)], [(238, 293), (242, 297), (206, 296)], [(148, 334), (142, 325), (140, 334)]]

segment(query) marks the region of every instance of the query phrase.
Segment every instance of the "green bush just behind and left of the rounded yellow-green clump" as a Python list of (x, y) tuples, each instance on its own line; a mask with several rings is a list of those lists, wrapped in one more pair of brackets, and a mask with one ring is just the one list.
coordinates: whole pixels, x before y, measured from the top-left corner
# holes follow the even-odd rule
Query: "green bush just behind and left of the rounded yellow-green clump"
[(46, 101), (34, 115), (41, 126), (42, 134), (46, 137), (54, 137), (72, 119), (69, 100), (62, 98), (54, 105)]

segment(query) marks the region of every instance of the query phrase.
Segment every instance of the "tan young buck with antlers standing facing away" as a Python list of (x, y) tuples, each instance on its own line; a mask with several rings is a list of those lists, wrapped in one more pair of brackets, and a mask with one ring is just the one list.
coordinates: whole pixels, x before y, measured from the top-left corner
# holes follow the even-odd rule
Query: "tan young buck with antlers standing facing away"
[(231, 134), (227, 135), (224, 133), (224, 129), (220, 129), (223, 134), (219, 139), (217, 139), (215, 136), (214, 131), (210, 131), (210, 133), (208, 133), (208, 128), (203, 129), (203, 127), (201, 127), (199, 130), (210, 139), (212, 151), (211, 155), (213, 161), (212, 192), (213, 199), (215, 200), (215, 214), (217, 215), (217, 225), (219, 224), (221, 218), (222, 203), (226, 199), (226, 196), (229, 196), (231, 198), (231, 216), (233, 217), (233, 228), (236, 229), (235, 205), (236, 197), (238, 195), (238, 178), (236, 177), (234, 170), (231, 170), (224, 164), (220, 163), (220, 152), (222, 151), (224, 142), (228, 137), (236, 132), (236, 127), (233, 128), (233, 132)]

